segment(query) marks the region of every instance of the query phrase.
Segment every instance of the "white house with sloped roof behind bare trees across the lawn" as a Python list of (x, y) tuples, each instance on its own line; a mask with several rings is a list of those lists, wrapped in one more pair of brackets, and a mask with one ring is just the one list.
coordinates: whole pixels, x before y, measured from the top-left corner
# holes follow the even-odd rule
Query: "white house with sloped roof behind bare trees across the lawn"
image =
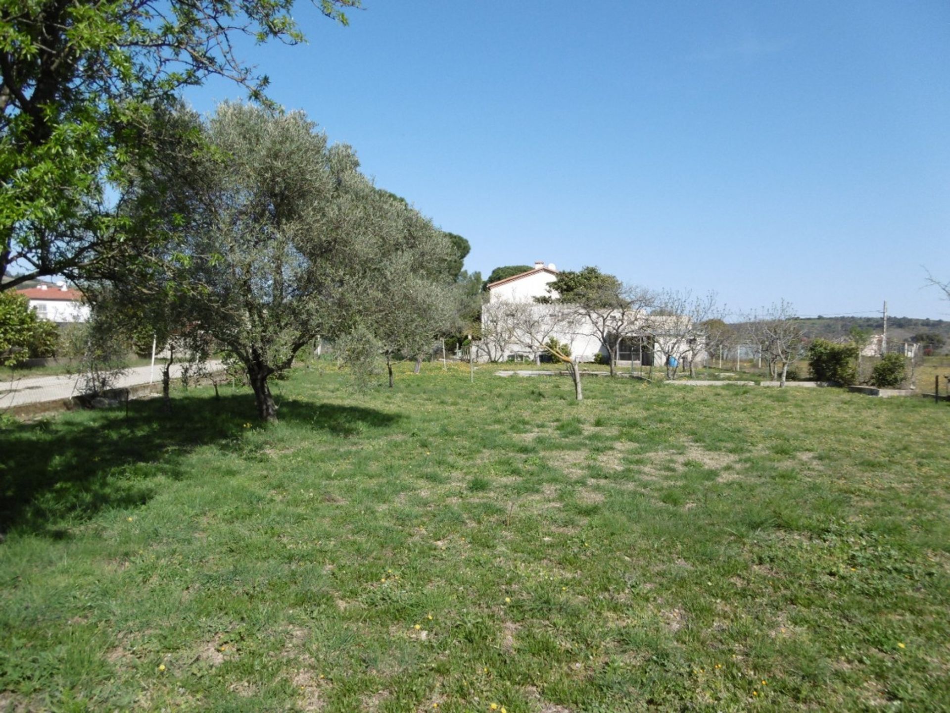
[[(558, 298), (558, 293), (549, 285), (558, 278), (558, 269), (553, 263), (545, 265), (535, 262), (534, 268), (510, 278), (491, 282), (486, 286), (488, 299), (482, 307), (482, 349), (481, 358), (491, 361), (541, 356), (537, 344), (520, 337), (516, 324), (527, 314), (533, 316), (536, 324), (543, 323), (546, 311), (563, 309), (557, 304), (539, 304), (537, 298)], [(528, 305), (532, 305), (530, 308)], [(517, 316), (516, 316), (517, 315)], [(644, 366), (653, 363), (663, 364), (667, 357), (675, 356), (693, 359), (697, 365), (705, 362), (705, 350), (697, 339), (701, 336), (686, 337), (679, 329), (686, 317), (643, 318), (643, 326), (634, 329), (633, 334), (621, 340), (618, 349), (618, 361), (641, 363)], [(678, 333), (677, 337), (673, 333)], [(597, 355), (609, 357), (609, 351), (599, 337), (598, 329), (590, 318), (569, 320), (569, 324), (554, 328), (546, 337), (556, 337), (570, 345), (571, 355), (579, 361), (594, 361)], [(673, 346), (673, 345), (676, 346)], [(675, 354), (679, 352), (679, 354)]]

